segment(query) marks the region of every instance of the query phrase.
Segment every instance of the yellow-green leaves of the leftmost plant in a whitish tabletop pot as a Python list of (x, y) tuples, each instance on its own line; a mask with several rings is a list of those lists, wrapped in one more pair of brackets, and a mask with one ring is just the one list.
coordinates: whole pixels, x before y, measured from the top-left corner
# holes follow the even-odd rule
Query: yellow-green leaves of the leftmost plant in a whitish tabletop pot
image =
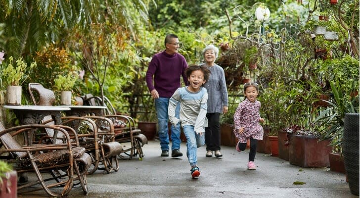
[(30, 64), (29, 68), (22, 57), (16, 60), (16, 67), (13, 66), (12, 56), (9, 57), (8, 62), (7, 67), (2, 70), (2, 77), (8, 86), (21, 86), (29, 77), (31, 69), (37, 66), (34, 61)]

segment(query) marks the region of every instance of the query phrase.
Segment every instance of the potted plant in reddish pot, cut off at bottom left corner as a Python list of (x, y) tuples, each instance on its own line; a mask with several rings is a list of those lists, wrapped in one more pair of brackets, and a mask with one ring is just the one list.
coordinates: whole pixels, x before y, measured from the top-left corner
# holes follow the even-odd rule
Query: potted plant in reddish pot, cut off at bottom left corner
[(17, 173), (12, 167), (0, 160), (0, 197), (16, 198), (17, 196)]

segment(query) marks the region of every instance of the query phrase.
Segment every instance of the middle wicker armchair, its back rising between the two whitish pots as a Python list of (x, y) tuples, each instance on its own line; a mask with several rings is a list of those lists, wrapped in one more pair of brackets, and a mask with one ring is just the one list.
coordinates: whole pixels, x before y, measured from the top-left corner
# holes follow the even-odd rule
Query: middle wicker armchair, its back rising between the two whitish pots
[[(39, 83), (29, 84), (30, 96), (36, 105), (52, 105), (55, 101), (54, 93), (44, 88)], [(37, 95), (37, 97), (35, 97)], [(37, 100), (38, 99), (38, 100)], [(97, 169), (104, 169), (107, 173), (112, 170), (119, 170), (119, 162), (117, 155), (122, 152), (122, 147), (118, 142), (114, 141), (114, 129), (113, 123), (110, 119), (99, 116), (84, 116), (84, 117), (62, 117), (62, 125), (73, 127), (79, 132), (79, 126), (81, 122), (87, 122), (91, 126), (91, 132), (86, 134), (78, 134), (80, 137), (80, 145), (86, 149), (86, 152), (90, 154), (92, 158), (92, 165), (89, 169), (89, 174), (94, 173)], [(106, 125), (109, 130), (103, 132), (98, 131), (97, 125)], [(44, 124), (53, 124), (51, 117), (45, 117)], [(88, 131), (89, 132), (89, 131)], [(51, 130), (46, 130), (46, 134), (52, 134)], [(58, 140), (56, 140), (58, 141)], [(58, 143), (58, 142), (56, 142)], [(100, 162), (103, 167), (99, 167)]]

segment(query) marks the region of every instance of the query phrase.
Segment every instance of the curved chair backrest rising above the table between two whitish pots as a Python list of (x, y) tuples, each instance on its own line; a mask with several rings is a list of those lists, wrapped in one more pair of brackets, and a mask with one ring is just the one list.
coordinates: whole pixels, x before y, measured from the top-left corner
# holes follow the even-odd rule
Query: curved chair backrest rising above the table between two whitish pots
[[(33, 91), (36, 91), (39, 100), (36, 101)], [(53, 91), (46, 89), (39, 83), (29, 83), (30, 97), (35, 105), (51, 106), (55, 102), (55, 94)]]

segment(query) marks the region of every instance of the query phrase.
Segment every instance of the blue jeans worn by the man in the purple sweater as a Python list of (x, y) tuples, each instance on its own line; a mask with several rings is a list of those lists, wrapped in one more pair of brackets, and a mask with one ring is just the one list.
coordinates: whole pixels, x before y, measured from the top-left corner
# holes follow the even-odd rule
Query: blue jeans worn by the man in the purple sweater
[[(155, 108), (158, 116), (159, 139), (161, 150), (169, 150), (169, 130), (168, 130), (168, 106), (170, 98), (160, 97), (155, 99)], [(175, 117), (179, 118), (180, 105), (175, 109)], [(176, 126), (171, 126), (171, 150), (180, 149), (180, 122)]]

